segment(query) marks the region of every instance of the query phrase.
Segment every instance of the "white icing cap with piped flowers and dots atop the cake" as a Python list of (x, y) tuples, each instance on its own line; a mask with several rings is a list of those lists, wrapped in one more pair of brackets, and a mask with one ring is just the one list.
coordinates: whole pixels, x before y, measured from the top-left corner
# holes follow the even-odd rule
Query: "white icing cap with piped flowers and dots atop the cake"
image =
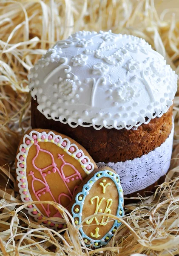
[(177, 90), (175, 72), (151, 45), (111, 31), (79, 31), (57, 42), (28, 78), (46, 118), (98, 130), (162, 116)]

